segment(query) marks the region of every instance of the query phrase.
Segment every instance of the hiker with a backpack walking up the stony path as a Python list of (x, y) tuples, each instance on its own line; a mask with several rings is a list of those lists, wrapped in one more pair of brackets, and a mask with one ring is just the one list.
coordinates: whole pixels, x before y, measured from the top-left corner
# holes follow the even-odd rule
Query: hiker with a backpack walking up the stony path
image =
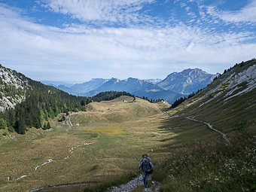
[(142, 162), (139, 164), (139, 171), (142, 168), (144, 186), (148, 187), (149, 175), (153, 173), (153, 164), (147, 154), (142, 158)]

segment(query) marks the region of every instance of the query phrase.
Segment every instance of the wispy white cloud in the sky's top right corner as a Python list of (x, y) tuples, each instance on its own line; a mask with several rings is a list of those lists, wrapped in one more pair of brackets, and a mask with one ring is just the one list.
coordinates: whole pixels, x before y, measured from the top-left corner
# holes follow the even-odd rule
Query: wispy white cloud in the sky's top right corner
[(207, 14), (218, 17), (227, 23), (256, 23), (256, 0), (252, 0), (239, 11), (220, 11), (212, 6), (206, 8)]

